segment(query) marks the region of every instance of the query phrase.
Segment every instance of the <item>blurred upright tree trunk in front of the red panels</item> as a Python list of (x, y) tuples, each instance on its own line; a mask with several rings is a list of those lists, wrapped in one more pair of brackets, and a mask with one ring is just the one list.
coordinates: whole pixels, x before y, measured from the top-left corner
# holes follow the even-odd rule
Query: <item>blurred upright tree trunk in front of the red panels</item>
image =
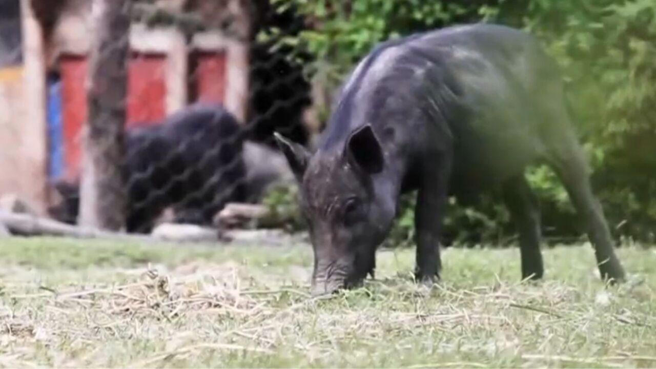
[(121, 173), (125, 155), (131, 0), (93, 0), (96, 28), (87, 90), (89, 121), (84, 133), (80, 224), (120, 230), (125, 225), (127, 189)]

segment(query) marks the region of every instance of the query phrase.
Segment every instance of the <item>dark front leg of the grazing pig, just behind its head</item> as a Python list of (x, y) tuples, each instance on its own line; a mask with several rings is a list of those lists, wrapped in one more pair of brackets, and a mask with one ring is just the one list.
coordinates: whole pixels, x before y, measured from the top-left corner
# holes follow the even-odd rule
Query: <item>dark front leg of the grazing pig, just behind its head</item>
[(421, 180), (415, 207), (417, 242), (415, 278), (420, 282), (433, 282), (436, 278), (440, 278), (440, 240), (452, 162), (451, 150), (426, 154), (422, 160)]

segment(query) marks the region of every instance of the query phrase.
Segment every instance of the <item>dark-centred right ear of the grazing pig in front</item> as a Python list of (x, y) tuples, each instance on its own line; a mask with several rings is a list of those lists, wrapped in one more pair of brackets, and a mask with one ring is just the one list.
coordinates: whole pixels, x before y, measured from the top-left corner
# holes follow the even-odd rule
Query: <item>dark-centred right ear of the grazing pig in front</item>
[(382, 171), (384, 165), (382, 147), (371, 125), (367, 124), (351, 133), (346, 142), (346, 156), (369, 174)]

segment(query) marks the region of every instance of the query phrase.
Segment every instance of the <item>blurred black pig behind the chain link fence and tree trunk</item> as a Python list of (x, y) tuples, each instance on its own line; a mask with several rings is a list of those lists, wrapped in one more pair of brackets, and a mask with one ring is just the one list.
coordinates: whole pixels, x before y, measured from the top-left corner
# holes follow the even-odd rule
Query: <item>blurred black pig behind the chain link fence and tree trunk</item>
[[(226, 202), (246, 200), (243, 129), (222, 106), (189, 106), (161, 124), (129, 129), (126, 142), (128, 232), (150, 232), (167, 207), (178, 223), (211, 225)], [(58, 181), (54, 188), (62, 201), (50, 215), (74, 224), (79, 183)]]

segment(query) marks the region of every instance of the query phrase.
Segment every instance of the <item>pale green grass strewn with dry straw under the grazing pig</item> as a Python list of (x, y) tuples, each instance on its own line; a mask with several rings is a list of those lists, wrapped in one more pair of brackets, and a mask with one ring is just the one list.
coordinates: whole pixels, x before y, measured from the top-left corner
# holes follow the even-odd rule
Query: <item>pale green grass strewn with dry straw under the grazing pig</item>
[(592, 250), (443, 252), (411, 282), (413, 250), (377, 279), (310, 299), (306, 245), (201, 247), (10, 239), (0, 245), (0, 367), (654, 367), (656, 251), (621, 248), (606, 288)]

